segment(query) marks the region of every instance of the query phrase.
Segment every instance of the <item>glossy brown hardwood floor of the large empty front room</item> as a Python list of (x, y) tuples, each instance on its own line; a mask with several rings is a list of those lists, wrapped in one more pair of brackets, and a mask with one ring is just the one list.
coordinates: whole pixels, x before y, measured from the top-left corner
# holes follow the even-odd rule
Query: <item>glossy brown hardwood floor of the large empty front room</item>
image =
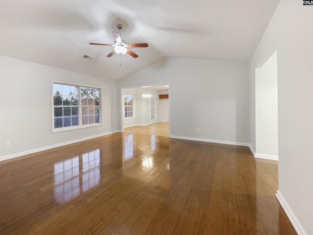
[(1, 235), (294, 235), (277, 163), (116, 133), (0, 162)]

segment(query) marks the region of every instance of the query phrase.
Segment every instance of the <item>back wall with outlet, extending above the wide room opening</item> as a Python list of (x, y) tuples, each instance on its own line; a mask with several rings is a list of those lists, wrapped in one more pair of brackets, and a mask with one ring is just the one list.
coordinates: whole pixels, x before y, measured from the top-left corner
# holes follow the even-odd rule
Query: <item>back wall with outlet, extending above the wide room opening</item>
[(247, 63), (170, 58), (119, 81), (120, 87), (164, 83), (172, 137), (248, 143)]

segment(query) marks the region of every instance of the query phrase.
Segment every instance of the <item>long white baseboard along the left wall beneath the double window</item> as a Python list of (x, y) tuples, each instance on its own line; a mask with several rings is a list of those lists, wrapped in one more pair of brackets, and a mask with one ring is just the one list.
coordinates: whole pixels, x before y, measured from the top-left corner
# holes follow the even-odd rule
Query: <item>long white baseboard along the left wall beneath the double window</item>
[(48, 149), (51, 149), (51, 148), (61, 147), (61, 146), (64, 146), (64, 145), (67, 145), (67, 144), (71, 144), (71, 143), (77, 143), (77, 142), (80, 142), (80, 141), (87, 141), (87, 140), (90, 140), (90, 139), (94, 139), (94, 138), (102, 137), (102, 136), (107, 136), (107, 135), (111, 135), (113, 133), (118, 133), (118, 132), (121, 132), (121, 131), (111, 131), (111, 132), (107, 132), (107, 133), (104, 133), (104, 134), (89, 136), (89, 137), (78, 139), (78, 140), (57, 143), (57, 144), (53, 144), (53, 145), (49, 145), (49, 146), (45, 146), (45, 147), (41, 147), (41, 148), (27, 150), (27, 151), (20, 152), (20, 153), (6, 155), (6, 156), (0, 157), (0, 161), (21, 157), (21, 156), (24, 156), (24, 155), (27, 155), (27, 154), (31, 154), (31, 153), (37, 153), (37, 152), (48, 150)]

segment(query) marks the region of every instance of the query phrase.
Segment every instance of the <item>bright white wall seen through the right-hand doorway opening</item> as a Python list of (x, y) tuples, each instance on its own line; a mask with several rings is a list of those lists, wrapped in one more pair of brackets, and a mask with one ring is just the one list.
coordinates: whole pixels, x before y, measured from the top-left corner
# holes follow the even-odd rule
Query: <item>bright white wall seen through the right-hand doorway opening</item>
[(256, 155), (278, 160), (277, 52), (255, 69)]

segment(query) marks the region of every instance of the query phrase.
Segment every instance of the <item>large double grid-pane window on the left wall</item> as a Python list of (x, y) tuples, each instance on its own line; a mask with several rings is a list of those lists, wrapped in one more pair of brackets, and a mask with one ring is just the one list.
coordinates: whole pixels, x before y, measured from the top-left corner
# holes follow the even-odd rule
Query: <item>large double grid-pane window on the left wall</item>
[(100, 123), (100, 92), (98, 88), (53, 83), (53, 129)]

